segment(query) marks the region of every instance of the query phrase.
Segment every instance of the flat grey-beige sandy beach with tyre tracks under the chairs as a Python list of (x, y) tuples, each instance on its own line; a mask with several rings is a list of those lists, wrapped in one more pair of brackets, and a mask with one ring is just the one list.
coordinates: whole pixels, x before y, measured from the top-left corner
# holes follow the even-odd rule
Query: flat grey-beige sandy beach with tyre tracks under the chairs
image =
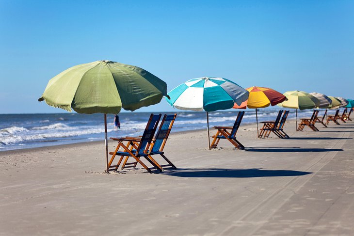
[(318, 127), (172, 134), (158, 174), (103, 174), (103, 142), (0, 152), (0, 235), (353, 235), (354, 122)]

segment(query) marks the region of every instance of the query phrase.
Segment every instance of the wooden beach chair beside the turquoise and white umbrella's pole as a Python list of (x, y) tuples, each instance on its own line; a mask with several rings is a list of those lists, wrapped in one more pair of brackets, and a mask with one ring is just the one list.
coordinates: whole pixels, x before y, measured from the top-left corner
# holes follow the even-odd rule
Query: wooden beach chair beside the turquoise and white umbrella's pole
[(214, 138), (210, 144), (210, 148), (216, 148), (221, 139), (226, 139), (231, 142), (236, 148), (244, 149), (244, 146), (236, 139), (237, 130), (240, 127), (244, 111), (239, 111), (235, 124), (232, 127), (229, 126), (214, 126), (217, 129), (216, 134), (211, 138)]

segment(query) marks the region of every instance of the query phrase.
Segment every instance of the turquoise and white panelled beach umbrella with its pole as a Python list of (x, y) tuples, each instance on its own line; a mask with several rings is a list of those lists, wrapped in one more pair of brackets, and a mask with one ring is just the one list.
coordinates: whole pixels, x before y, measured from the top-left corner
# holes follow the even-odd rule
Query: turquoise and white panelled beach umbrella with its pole
[(231, 80), (215, 77), (190, 79), (171, 90), (166, 101), (180, 110), (195, 110), (207, 112), (208, 142), (209, 112), (226, 110), (234, 103), (240, 104), (247, 100), (248, 91)]

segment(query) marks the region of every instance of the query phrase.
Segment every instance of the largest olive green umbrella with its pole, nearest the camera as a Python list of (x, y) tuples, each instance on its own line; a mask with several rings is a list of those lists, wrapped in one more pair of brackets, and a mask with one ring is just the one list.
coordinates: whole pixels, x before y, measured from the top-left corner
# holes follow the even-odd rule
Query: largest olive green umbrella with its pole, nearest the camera
[(164, 81), (142, 68), (111, 61), (80, 64), (50, 79), (38, 99), (49, 106), (78, 113), (104, 113), (106, 172), (107, 115), (157, 104), (167, 96)]

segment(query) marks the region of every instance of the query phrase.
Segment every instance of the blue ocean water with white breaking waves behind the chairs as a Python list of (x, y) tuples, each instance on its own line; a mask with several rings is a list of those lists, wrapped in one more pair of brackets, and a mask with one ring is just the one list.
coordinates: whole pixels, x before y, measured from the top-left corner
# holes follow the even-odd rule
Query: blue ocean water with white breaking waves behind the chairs
[[(232, 126), (237, 111), (209, 112), (209, 126)], [(278, 111), (278, 108), (260, 109), (258, 110), (258, 121), (274, 120)], [(165, 113), (173, 114), (174, 112)], [(177, 118), (172, 132), (203, 129), (207, 126), (206, 112), (176, 110), (176, 113)], [(322, 113), (320, 112), (320, 115)], [(298, 117), (309, 117), (311, 114), (312, 110), (299, 111)], [(107, 115), (108, 137), (141, 135), (149, 115), (150, 112), (122, 112), (119, 114), (121, 128), (118, 130), (114, 130), (113, 127), (114, 116)], [(294, 117), (294, 110), (290, 110), (288, 118)], [(255, 110), (245, 110), (241, 126), (255, 122)], [(0, 114), (0, 151), (103, 139), (103, 114)]]

